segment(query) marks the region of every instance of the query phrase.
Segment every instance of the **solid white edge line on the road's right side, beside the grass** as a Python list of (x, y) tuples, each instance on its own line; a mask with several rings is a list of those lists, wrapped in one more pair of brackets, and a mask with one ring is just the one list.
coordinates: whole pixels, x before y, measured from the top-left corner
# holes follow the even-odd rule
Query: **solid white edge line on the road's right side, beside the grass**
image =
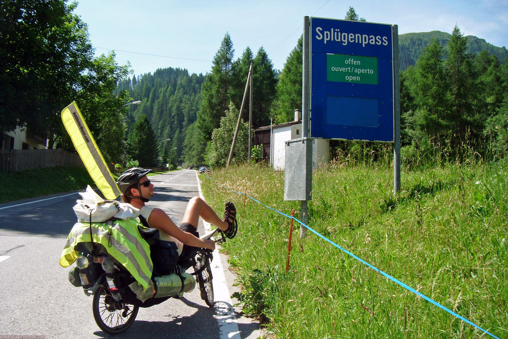
[[(196, 180), (198, 181), (199, 196), (201, 199), (204, 199), (203, 193), (201, 192), (198, 172), (196, 172)], [(204, 220), (203, 225), (205, 226), (205, 232), (211, 230), (211, 225)], [(238, 330), (238, 324), (236, 323), (233, 310), (233, 301), (230, 297), (231, 293), (226, 284), (226, 276), (224, 275), (224, 268), (220, 262), (220, 254), (217, 248), (213, 251), (213, 257), (214, 260), (210, 264), (213, 275), (213, 292), (214, 299), (218, 300), (215, 302), (215, 315), (213, 317), (217, 320), (221, 339), (240, 339), (240, 331)]]

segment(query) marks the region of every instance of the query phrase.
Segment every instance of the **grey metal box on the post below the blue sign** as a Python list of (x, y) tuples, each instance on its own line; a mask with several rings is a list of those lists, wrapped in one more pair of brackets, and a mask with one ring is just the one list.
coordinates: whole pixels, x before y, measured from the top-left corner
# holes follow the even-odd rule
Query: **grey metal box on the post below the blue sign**
[(312, 138), (285, 142), (284, 200), (310, 200)]

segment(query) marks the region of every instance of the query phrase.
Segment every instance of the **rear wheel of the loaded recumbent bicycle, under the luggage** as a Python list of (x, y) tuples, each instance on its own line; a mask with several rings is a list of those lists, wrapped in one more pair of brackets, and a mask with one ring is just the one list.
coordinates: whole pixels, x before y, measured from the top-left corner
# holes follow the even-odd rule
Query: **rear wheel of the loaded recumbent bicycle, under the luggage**
[(109, 291), (99, 287), (93, 295), (93, 319), (108, 334), (122, 333), (134, 323), (139, 306), (113, 299)]

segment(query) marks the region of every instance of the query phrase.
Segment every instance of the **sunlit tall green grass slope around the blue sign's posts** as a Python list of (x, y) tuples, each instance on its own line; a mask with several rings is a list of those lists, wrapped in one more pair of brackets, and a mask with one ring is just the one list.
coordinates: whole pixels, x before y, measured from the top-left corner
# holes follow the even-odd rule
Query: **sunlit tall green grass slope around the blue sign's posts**
[[(284, 176), (232, 166), (200, 176), (216, 210), (231, 200), (239, 232), (225, 243), (244, 312), (278, 337), (480, 337), (482, 332), (388, 280), (290, 219)], [(309, 226), (347, 251), (498, 337), (508, 336), (508, 165), (402, 171), (332, 164), (313, 173)], [(316, 335), (317, 334), (317, 335)], [(488, 335), (484, 335), (486, 337)]]

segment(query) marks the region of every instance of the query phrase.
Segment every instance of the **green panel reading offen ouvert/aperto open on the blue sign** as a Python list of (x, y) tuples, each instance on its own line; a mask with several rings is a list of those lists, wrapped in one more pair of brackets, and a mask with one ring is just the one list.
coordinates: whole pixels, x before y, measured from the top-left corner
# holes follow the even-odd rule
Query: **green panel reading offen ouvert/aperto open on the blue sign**
[(326, 80), (377, 85), (377, 58), (371, 56), (327, 54)]

